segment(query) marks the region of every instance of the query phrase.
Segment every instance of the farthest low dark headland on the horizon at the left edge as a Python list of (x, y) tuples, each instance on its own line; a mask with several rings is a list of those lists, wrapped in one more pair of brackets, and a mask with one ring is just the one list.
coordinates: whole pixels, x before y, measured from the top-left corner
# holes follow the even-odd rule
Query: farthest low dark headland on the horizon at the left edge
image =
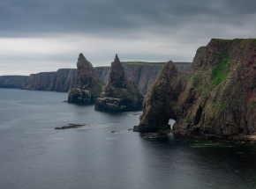
[(23, 88), (28, 76), (0, 76), (0, 88)]

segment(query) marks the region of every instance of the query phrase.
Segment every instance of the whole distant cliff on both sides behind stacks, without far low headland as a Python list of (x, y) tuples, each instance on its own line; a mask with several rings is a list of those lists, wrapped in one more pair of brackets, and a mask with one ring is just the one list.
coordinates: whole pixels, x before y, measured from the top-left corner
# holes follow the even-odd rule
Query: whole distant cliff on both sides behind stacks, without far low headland
[[(188, 73), (192, 62), (174, 62), (177, 70)], [(122, 62), (128, 80), (134, 81), (139, 91), (146, 95), (154, 83), (164, 62)], [(95, 67), (100, 80), (107, 84), (110, 66)], [(68, 91), (74, 88), (77, 69), (58, 69), (56, 72), (41, 72), (31, 74), (27, 81), (26, 90)]]

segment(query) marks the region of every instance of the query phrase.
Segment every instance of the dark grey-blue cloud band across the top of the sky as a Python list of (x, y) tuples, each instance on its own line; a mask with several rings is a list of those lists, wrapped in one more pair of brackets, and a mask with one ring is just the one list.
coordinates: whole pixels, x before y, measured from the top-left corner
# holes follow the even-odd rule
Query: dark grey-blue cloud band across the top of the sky
[(30, 33), (129, 33), (186, 24), (243, 25), (252, 0), (2, 0), (2, 36)]

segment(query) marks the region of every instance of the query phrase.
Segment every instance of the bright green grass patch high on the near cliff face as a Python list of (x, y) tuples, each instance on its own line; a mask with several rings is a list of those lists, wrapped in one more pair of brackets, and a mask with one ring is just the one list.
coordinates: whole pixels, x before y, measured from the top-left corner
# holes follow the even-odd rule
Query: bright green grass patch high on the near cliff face
[(216, 86), (222, 84), (222, 82), (230, 75), (230, 66), (228, 65), (229, 62), (230, 56), (227, 54), (222, 54), (222, 63), (216, 65), (212, 70), (213, 84)]

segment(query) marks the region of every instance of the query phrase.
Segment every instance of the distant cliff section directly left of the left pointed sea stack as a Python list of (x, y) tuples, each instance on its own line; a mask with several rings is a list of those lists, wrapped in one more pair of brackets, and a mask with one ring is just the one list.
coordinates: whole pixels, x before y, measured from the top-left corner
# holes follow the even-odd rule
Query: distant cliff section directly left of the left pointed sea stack
[(68, 91), (74, 87), (77, 69), (58, 69), (56, 72), (31, 74), (25, 90)]

